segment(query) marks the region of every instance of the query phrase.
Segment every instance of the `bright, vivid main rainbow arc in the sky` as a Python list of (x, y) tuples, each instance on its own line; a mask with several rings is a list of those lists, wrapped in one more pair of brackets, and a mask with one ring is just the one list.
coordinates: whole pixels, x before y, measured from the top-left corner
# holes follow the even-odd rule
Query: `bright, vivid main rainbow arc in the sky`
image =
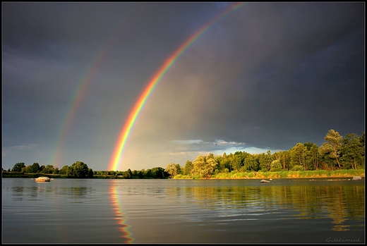
[(147, 102), (150, 94), (152, 94), (152, 91), (155, 89), (157, 84), (160, 82), (164, 74), (167, 73), (167, 70), (169, 70), (169, 68), (172, 67), (174, 62), (177, 59), (179, 59), (181, 54), (183, 54), (183, 51), (186, 51), (186, 49), (188, 49), (188, 47), (190, 47), (190, 45), (193, 44), (193, 42), (195, 42), (196, 39), (198, 39), (201, 35), (203, 35), (203, 33), (206, 30), (208, 30), (212, 25), (217, 23), (217, 21), (227, 16), (229, 13), (232, 13), (236, 11), (237, 9), (241, 8), (241, 6), (243, 6), (244, 4), (246, 3), (231, 4), (231, 6), (226, 8), (226, 10), (224, 10), (222, 13), (219, 13), (219, 15), (216, 16), (214, 19), (205, 23), (203, 27), (200, 27), (200, 29), (197, 30), (195, 33), (193, 33), (191, 37), (188, 37), (188, 39), (186, 39), (186, 41), (183, 42), (183, 44), (181, 44), (181, 46), (178, 49), (176, 49), (176, 51), (174, 51), (174, 53), (171, 56), (169, 56), (169, 58), (166, 61), (164, 61), (160, 69), (157, 70), (157, 72), (155, 73), (155, 75), (153, 75), (150, 82), (148, 82), (147, 87), (145, 87), (145, 89), (143, 90), (143, 93), (140, 94), (138, 101), (136, 102), (135, 106), (131, 110), (131, 113), (129, 114), (126, 120), (126, 123), (124, 124), (124, 128), (121, 130), (121, 133), (117, 140), (117, 144), (116, 144), (114, 153), (112, 155), (112, 159), (109, 164), (109, 170), (117, 171), (117, 168), (121, 160), (122, 153), (124, 151), (124, 147), (126, 145), (126, 141), (128, 140), (128, 136), (131, 133), (133, 125), (136, 122), (136, 119), (138, 118), (141, 109), (143, 109), (145, 102)]

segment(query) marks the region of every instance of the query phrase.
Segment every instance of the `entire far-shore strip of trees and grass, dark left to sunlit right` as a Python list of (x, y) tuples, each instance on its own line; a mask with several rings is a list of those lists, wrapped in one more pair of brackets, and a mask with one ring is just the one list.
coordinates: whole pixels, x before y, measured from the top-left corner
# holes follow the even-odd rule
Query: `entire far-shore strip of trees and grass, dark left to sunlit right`
[[(93, 171), (82, 161), (61, 169), (35, 163), (17, 163), (3, 177), (47, 176), (49, 178), (328, 178), (364, 176), (365, 140), (355, 133), (342, 137), (333, 129), (318, 147), (312, 142), (298, 142), (287, 151), (250, 154), (235, 152), (197, 156), (185, 166), (170, 163), (140, 171)], [(46, 175), (47, 174), (47, 175)]]

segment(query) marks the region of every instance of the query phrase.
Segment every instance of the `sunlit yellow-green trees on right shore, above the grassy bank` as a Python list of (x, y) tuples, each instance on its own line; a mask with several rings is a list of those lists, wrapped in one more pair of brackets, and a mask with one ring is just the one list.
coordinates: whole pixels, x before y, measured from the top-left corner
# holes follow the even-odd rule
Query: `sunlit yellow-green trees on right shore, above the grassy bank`
[(170, 177), (177, 175), (210, 178), (213, 174), (238, 172), (268, 171), (313, 171), (337, 169), (364, 169), (364, 132), (344, 138), (333, 129), (324, 137), (325, 142), (318, 147), (312, 142), (298, 142), (286, 151), (249, 154), (200, 155), (193, 161), (186, 161), (185, 166), (170, 163), (166, 171)]

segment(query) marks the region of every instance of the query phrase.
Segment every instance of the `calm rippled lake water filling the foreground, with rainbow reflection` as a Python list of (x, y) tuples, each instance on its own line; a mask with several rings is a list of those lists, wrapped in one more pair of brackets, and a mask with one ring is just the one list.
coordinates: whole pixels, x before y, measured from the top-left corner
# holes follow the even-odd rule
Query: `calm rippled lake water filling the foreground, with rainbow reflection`
[(364, 179), (2, 179), (3, 243), (364, 243)]

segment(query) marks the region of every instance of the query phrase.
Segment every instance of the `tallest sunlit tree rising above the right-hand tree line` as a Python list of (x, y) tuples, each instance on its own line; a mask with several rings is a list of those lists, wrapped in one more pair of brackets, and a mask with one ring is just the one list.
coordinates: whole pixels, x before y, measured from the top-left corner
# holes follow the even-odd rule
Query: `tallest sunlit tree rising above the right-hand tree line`
[(327, 142), (324, 142), (323, 145), (321, 145), (320, 147), (321, 153), (329, 154), (331, 158), (337, 161), (339, 169), (342, 169), (342, 165), (339, 161), (340, 148), (342, 147), (342, 138), (343, 137), (339, 135), (337, 131), (335, 131), (334, 129), (330, 129), (324, 137), (324, 140)]

